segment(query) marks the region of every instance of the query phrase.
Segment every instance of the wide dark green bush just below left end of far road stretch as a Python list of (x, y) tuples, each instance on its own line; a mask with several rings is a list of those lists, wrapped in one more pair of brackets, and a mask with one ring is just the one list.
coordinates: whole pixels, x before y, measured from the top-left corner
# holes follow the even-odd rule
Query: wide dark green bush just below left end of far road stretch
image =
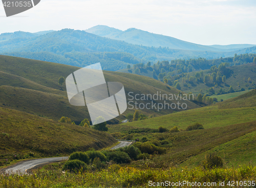
[(112, 150), (104, 153), (106, 154), (109, 160), (113, 160), (118, 164), (131, 162), (131, 158), (129, 157), (129, 155), (123, 151)]

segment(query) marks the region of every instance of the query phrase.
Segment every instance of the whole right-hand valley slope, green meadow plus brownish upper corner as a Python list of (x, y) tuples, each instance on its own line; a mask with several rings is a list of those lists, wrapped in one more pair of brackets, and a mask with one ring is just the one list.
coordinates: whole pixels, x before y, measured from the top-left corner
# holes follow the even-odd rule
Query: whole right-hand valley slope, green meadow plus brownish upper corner
[(256, 89), (213, 106), (172, 113), (154, 119), (129, 122), (125, 125), (141, 128), (158, 128), (159, 126), (172, 128), (177, 126), (179, 129), (185, 129), (187, 126), (199, 122), (205, 128), (221, 127), (255, 121), (255, 105)]

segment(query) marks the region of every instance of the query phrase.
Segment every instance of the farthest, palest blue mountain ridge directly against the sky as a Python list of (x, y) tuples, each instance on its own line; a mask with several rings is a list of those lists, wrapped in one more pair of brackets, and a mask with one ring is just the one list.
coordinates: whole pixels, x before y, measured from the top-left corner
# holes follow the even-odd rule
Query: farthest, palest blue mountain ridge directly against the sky
[(156, 48), (161, 46), (168, 47), (169, 49), (179, 50), (231, 52), (256, 46), (255, 44), (200, 45), (179, 40), (174, 37), (154, 34), (135, 28), (121, 31), (115, 28), (110, 28), (108, 26), (99, 25), (84, 31), (101, 37), (107, 37), (115, 40), (123, 40), (131, 44), (154, 46)]

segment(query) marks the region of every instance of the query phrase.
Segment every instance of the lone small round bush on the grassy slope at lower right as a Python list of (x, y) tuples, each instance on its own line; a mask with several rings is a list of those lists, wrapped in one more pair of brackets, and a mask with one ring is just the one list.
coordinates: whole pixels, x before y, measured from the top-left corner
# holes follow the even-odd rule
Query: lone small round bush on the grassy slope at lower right
[(221, 168), (223, 167), (222, 158), (215, 154), (207, 154), (205, 155), (205, 160), (203, 161), (203, 167), (205, 169)]

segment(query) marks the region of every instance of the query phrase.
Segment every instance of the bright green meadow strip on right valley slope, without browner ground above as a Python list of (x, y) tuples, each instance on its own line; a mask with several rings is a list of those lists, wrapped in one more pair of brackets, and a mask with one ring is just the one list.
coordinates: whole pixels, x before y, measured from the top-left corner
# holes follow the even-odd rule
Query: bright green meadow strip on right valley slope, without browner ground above
[[(234, 123), (245, 123), (255, 121), (255, 107), (218, 109), (218, 106), (209, 106), (192, 109), (143, 121), (125, 123), (126, 126), (134, 128), (158, 128), (160, 126), (172, 128), (177, 126), (179, 129), (186, 129), (194, 123), (203, 124), (204, 128), (223, 127)], [(118, 127), (122, 125), (115, 126)], [(112, 126), (114, 128), (114, 126)]]

